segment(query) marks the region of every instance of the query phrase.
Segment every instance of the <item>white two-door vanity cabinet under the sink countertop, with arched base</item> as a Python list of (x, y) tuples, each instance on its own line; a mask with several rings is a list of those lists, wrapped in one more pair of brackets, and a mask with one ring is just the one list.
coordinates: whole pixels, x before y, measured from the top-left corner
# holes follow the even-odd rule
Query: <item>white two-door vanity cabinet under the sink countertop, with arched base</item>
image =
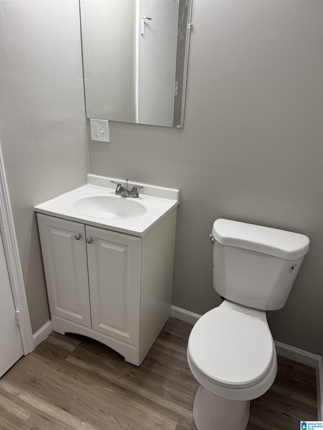
[(140, 365), (170, 316), (176, 208), (142, 237), (37, 213), (53, 330)]

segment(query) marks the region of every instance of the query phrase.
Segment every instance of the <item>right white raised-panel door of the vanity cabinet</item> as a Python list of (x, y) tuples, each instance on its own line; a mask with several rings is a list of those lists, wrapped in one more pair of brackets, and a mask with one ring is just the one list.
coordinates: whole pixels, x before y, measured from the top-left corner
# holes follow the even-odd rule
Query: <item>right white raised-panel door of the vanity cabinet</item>
[(139, 346), (140, 237), (86, 226), (92, 329)]

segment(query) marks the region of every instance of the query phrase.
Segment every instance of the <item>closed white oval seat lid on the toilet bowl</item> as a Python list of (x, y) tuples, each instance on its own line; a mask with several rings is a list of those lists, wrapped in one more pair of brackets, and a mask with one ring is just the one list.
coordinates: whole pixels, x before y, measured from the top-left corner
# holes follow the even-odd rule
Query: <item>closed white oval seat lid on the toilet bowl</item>
[(243, 388), (268, 372), (274, 348), (263, 321), (220, 306), (194, 325), (188, 351), (204, 375), (220, 385)]

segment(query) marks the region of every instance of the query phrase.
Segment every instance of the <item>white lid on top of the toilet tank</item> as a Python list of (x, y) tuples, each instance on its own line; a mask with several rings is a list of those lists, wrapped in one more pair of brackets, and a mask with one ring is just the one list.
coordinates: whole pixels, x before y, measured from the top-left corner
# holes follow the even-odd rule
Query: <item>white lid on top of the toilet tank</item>
[(217, 219), (213, 224), (212, 234), (223, 245), (285, 260), (303, 257), (309, 249), (309, 238), (304, 234), (229, 219)]

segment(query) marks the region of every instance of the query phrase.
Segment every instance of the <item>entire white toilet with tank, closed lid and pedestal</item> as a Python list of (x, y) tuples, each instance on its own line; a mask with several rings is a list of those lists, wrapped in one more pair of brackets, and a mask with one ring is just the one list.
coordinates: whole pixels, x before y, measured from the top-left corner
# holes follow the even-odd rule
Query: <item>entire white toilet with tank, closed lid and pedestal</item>
[(198, 430), (245, 430), (250, 400), (277, 373), (266, 311), (285, 305), (309, 239), (227, 219), (214, 222), (210, 238), (213, 286), (224, 301), (189, 336), (188, 364), (200, 384), (193, 416)]

